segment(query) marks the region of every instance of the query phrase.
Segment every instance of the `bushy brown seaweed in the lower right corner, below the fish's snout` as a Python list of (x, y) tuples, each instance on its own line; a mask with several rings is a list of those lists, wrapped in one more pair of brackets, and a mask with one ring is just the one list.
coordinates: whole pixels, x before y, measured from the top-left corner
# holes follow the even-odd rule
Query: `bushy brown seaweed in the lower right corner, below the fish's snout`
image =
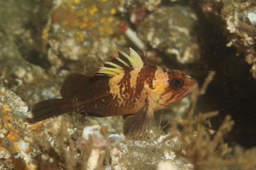
[[(218, 111), (195, 114), (197, 99), (206, 92), (215, 72), (209, 72), (203, 86), (195, 89), (190, 96), (190, 107), (183, 118), (169, 120), (169, 139), (176, 138), (178, 146), (171, 151), (194, 165), (194, 170), (202, 169), (256, 169), (256, 148), (244, 150), (240, 146), (230, 147), (224, 136), (230, 132), (234, 121), (226, 115), (217, 131), (212, 129), (209, 118)], [(164, 142), (164, 143), (165, 143)], [(162, 147), (166, 147), (165, 144)]]

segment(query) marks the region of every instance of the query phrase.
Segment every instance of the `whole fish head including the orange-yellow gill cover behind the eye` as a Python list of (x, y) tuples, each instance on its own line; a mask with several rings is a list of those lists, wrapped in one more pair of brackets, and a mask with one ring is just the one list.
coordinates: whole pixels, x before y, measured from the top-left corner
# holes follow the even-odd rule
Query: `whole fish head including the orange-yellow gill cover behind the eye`
[(185, 75), (180, 70), (169, 70), (158, 67), (154, 80), (147, 84), (147, 94), (154, 103), (154, 110), (180, 101), (198, 87), (195, 79)]

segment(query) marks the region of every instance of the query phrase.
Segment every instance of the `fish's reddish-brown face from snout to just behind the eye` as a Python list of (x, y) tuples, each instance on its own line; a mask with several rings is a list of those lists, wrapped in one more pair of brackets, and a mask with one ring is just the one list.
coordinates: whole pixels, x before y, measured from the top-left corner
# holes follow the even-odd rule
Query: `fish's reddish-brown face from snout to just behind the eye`
[(180, 70), (167, 70), (168, 74), (168, 87), (164, 89), (160, 95), (163, 105), (170, 105), (182, 98), (186, 97), (191, 91), (198, 87), (195, 79), (189, 75), (185, 75)]

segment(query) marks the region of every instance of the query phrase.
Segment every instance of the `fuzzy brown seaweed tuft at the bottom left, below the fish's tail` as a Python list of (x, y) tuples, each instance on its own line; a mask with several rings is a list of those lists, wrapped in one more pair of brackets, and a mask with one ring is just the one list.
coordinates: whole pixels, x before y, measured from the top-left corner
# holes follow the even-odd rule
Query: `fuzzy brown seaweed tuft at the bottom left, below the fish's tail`
[[(49, 125), (48, 134), (44, 133), (42, 139), (34, 137), (34, 147), (41, 152), (39, 166), (41, 169), (57, 169), (74, 170), (76, 167), (75, 143), (71, 138), (67, 128), (69, 122), (65, 119), (61, 120), (59, 128), (54, 124)], [(56, 125), (55, 125), (56, 126)], [(57, 142), (50, 142), (49, 138), (56, 138)]]

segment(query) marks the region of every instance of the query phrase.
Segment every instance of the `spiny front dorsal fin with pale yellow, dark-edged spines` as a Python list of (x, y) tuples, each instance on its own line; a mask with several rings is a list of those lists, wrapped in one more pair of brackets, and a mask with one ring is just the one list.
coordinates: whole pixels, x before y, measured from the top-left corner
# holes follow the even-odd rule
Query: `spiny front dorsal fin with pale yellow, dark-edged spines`
[(130, 48), (130, 56), (123, 51), (118, 50), (119, 58), (110, 55), (112, 62), (103, 62), (104, 67), (98, 67), (97, 75), (115, 76), (125, 72), (130, 72), (133, 69), (143, 68), (150, 65), (150, 59), (147, 59), (145, 51), (140, 57), (137, 52)]

